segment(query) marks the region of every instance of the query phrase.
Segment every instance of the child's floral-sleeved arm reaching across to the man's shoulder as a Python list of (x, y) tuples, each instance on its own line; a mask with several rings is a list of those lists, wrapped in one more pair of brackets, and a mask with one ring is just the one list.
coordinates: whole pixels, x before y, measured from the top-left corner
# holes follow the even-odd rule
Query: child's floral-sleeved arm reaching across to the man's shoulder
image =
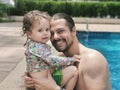
[(35, 44), (32, 48), (30, 48), (30, 52), (35, 56), (43, 59), (46, 63), (51, 66), (66, 66), (73, 64), (75, 60), (72, 57), (61, 57), (57, 55), (53, 55), (50, 49), (46, 49), (42, 45)]

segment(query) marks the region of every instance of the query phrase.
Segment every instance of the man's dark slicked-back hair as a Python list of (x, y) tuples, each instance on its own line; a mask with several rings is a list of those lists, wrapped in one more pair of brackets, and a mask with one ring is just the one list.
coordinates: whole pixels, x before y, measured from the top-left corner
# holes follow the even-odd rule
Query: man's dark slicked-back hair
[(67, 26), (69, 27), (70, 31), (72, 31), (73, 27), (75, 26), (75, 23), (71, 16), (65, 13), (54, 14), (52, 20), (58, 20), (58, 19), (65, 19)]

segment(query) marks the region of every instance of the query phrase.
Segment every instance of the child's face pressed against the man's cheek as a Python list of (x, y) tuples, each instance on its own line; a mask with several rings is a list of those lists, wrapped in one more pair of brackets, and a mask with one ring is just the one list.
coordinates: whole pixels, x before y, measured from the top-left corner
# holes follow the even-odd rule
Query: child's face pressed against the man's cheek
[(32, 25), (32, 31), (28, 32), (28, 37), (39, 43), (47, 43), (50, 39), (50, 24), (49, 21), (42, 18), (41, 21), (35, 21)]

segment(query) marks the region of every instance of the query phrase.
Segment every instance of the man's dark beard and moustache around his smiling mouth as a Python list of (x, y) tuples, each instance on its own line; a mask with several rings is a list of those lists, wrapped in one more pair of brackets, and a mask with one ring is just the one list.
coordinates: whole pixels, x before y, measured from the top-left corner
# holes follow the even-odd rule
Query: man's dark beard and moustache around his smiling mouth
[[(59, 42), (59, 41), (63, 41), (64, 43), (66, 43), (66, 47), (65, 47), (65, 49), (60, 49), (59, 47), (57, 47), (57, 42)], [(66, 41), (66, 39), (59, 39), (59, 40), (54, 40), (53, 42), (52, 42), (52, 44), (53, 44), (53, 46), (55, 47), (55, 49), (57, 50), (57, 51), (59, 51), (59, 52), (67, 52), (68, 50), (69, 50), (69, 48), (71, 47), (71, 45), (73, 44), (73, 41), (71, 41), (70, 43), (67, 43), (67, 41)]]

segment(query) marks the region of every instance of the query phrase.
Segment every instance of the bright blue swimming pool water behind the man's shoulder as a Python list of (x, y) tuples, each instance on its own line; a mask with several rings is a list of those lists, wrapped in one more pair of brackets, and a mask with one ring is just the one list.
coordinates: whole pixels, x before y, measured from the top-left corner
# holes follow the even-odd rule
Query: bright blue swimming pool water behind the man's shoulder
[(85, 46), (100, 51), (108, 61), (112, 90), (120, 90), (120, 33), (77, 32)]

